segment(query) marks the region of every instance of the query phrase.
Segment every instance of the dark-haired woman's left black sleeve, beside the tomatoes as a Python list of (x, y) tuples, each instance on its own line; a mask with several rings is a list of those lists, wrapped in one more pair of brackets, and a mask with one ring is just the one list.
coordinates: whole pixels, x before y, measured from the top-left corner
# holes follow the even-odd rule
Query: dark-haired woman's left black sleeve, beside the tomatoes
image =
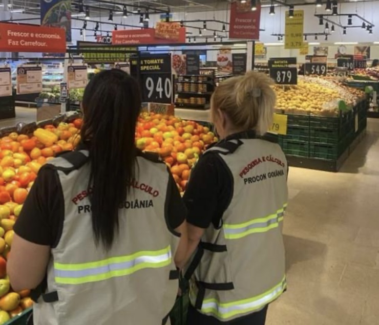
[(53, 247), (64, 221), (65, 202), (56, 170), (42, 168), (38, 172), (14, 231), (23, 239)]

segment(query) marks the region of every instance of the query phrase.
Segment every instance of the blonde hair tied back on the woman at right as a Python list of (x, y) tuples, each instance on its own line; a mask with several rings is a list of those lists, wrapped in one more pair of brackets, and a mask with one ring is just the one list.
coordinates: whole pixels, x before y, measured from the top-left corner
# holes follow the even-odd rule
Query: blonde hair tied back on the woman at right
[(221, 82), (212, 95), (215, 110), (224, 112), (235, 127), (254, 129), (258, 135), (268, 131), (275, 110), (276, 95), (272, 80), (263, 73), (250, 71)]

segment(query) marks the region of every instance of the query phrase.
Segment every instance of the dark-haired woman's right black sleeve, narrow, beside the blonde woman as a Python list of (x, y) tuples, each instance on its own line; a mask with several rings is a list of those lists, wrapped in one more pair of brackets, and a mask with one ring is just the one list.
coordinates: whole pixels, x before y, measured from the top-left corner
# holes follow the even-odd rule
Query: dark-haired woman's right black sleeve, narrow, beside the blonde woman
[(166, 218), (170, 228), (175, 229), (185, 221), (187, 209), (171, 172), (169, 174), (166, 197)]

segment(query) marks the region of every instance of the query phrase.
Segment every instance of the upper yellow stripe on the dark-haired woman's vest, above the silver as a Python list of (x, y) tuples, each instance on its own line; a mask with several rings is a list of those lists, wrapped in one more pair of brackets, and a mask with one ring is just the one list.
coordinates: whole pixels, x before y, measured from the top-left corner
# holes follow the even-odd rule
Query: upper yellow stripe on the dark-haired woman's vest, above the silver
[(141, 256), (158, 256), (158, 255), (162, 255), (169, 252), (171, 252), (170, 245), (158, 251), (140, 251), (132, 255), (110, 257), (110, 258), (102, 259), (101, 261), (96, 261), (96, 262), (76, 263), (76, 264), (54, 263), (54, 268), (56, 270), (66, 270), (66, 271), (85, 270), (89, 268), (97, 268), (101, 266), (106, 266), (108, 264), (113, 264), (113, 263), (129, 262)]

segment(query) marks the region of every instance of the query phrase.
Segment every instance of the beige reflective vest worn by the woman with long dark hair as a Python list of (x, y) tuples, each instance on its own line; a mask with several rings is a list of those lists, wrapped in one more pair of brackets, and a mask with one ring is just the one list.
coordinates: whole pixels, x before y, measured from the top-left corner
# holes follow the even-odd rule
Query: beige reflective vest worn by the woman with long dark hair
[(46, 168), (59, 176), (65, 219), (51, 249), (46, 292), (33, 307), (35, 325), (160, 325), (169, 314), (178, 292), (179, 237), (165, 218), (169, 172), (148, 158), (137, 156), (137, 180), (120, 204), (119, 231), (109, 251), (94, 241), (88, 151), (49, 162)]

